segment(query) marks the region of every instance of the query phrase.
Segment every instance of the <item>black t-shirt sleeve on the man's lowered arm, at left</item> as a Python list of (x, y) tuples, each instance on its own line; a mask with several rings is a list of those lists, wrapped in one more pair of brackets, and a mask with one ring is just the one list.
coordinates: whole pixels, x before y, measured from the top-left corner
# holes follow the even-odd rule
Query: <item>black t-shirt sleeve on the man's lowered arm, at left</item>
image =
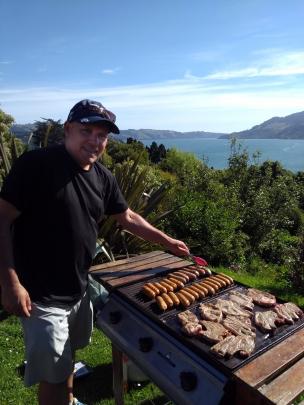
[(13, 164), (4, 179), (0, 197), (16, 207), (20, 212), (37, 203), (37, 175), (39, 164), (30, 152), (21, 155)]

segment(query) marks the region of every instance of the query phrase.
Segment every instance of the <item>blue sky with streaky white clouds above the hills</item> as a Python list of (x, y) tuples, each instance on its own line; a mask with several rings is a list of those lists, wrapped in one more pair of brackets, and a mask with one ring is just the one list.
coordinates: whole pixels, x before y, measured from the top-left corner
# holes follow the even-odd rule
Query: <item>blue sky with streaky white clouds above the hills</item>
[(0, 0), (0, 108), (232, 132), (304, 110), (302, 0)]

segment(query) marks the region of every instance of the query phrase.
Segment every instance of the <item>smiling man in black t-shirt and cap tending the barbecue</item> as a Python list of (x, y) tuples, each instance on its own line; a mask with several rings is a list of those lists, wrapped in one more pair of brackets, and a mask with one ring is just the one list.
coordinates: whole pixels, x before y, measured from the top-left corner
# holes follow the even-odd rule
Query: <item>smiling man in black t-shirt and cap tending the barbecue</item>
[(97, 162), (108, 134), (119, 133), (113, 113), (82, 100), (64, 132), (64, 145), (23, 154), (0, 192), (2, 305), (21, 318), (25, 384), (39, 383), (40, 405), (79, 403), (73, 359), (91, 336), (87, 273), (103, 215), (173, 254), (189, 254), (183, 242), (128, 208), (113, 175)]

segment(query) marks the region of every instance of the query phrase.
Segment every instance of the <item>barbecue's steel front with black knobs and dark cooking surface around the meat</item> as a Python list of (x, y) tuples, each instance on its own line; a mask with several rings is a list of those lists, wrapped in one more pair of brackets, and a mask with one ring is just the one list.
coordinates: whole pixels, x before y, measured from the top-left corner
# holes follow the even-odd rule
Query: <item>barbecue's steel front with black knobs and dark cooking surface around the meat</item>
[[(147, 281), (158, 281), (161, 276), (115, 289), (99, 311), (97, 324), (176, 404), (219, 404), (232, 372), (304, 323), (302, 318), (293, 325), (280, 326), (272, 335), (257, 331), (256, 348), (251, 356), (220, 359), (210, 352), (210, 345), (181, 333), (176, 316), (183, 309), (178, 307), (162, 313), (142, 293)], [(228, 298), (233, 290), (244, 292), (246, 287), (234, 284), (200, 302)], [(196, 302), (187, 309), (196, 313), (198, 306)]]

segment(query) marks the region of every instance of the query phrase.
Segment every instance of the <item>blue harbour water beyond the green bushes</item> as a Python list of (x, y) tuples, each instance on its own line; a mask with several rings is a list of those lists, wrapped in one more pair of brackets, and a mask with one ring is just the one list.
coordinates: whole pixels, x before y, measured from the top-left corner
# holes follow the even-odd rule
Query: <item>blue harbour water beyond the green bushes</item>
[[(141, 140), (150, 146), (153, 140)], [(176, 148), (183, 152), (191, 152), (204, 160), (209, 167), (226, 168), (231, 153), (231, 143), (228, 139), (157, 139), (155, 142), (163, 144), (167, 149)], [(250, 162), (253, 154), (259, 152), (258, 163), (265, 160), (279, 161), (285, 169), (293, 172), (304, 171), (304, 140), (298, 139), (240, 139), (242, 150), (246, 149)]]

